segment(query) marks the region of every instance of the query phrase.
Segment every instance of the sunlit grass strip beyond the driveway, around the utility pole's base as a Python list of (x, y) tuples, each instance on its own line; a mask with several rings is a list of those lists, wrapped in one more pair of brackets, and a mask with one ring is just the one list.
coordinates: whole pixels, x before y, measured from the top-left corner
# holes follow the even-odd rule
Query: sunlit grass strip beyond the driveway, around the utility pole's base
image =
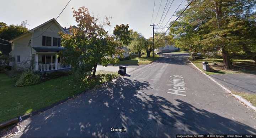
[(149, 58), (146, 57), (146, 54), (142, 55), (141, 58), (135, 57), (130, 60), (124, 60), (120, 61), (118, 64), (121, 65), (143, 65), (143, 64), (151, 64), (155, 60), (159, 59), (159, 55), (155, 54), (154, 59), (152, 58), (152, 54), (150, 55)]

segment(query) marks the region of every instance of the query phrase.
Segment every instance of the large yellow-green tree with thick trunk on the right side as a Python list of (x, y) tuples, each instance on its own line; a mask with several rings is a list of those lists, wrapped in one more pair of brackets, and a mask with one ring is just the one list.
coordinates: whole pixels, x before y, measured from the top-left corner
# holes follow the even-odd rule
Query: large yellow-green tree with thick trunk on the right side
[[(251, 48), (253, 46), (252, 39), (254, 39), (252, 36), (247, 39), (239, 39), (244, 38), (245, 33), (242, 32), (245, 31), (242, 31), (242, 28), (245, 29), (245, 25), (240, 24), (241, 28), (238, 30), (234, 24), (238, 24), (237, 21), (255, 21), (255, 10), (253, 10), (255, 2), (256, 0), (193, 1), (190, 8), (182, 14), (170, 29), (170, 36), (175, 40), (176, 46), (180, 44), (180, 47), (181, 45), (186, 47), (187, 44), (190, 44), (190, 51), (222, 51), (224, 67), (231, 69), (231, 53), (239, 52), (245, 46), (247, 47), (244, 48), (246, 50), (254, 50), (254, 48)], [(250, 26), (253, 25), (250, 24)], [(175, 31), (178, 31), (178, 33)], [(239, 31), (240, 33), (238, 33)], [(250, 45), (246, 44), (245, 41), (250, 42)]]

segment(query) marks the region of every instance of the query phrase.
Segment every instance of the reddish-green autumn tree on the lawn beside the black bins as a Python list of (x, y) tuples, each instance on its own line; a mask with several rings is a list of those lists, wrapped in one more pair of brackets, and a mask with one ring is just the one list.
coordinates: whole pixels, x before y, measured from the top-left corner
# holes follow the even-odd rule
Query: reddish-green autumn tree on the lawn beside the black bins
[(119, 60), (117, 55), (120, 55), (121, 51), (117, 47), (126, 43), (128, 38), (122, 34), (128, 33), (109, 36), (104, 27), (110, 26), (109, 19), (112, 17), (105, 17), (105, 20), (100, 22), (97, 17), (90, 15), (85, 7), (80, 7), (78, 11), (72, 9), (79, 28), (71, 28), (71, 34), (59, 33), (65, 47), (60, 54), (65, 57), (64, 62), (72, 65), (74, 71), (85, 74), (93, 70), (92, 77), (95, 77), (98, 63), (107, 66)]

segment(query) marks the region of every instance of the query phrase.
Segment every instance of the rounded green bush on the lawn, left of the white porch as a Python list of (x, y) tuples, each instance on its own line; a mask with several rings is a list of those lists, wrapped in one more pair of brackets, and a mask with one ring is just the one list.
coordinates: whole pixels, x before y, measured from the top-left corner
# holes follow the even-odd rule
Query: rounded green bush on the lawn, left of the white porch
[(25, 71), (21, 74), (20, 79), (17, 80), (15, 86), (30, 86), (40, 82), (40, 75), (33, 73), (32, 71)]

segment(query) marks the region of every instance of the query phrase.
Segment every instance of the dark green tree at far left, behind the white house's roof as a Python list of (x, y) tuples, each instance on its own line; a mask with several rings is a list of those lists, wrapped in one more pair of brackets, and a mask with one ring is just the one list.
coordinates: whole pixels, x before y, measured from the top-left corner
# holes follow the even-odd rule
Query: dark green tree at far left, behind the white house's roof
[(5, 40), (12, 40), (17, 36), (25, 33), (27, 28), (20, 25), (6, 25), (6, 23), (0, 22), (0, 38)]

